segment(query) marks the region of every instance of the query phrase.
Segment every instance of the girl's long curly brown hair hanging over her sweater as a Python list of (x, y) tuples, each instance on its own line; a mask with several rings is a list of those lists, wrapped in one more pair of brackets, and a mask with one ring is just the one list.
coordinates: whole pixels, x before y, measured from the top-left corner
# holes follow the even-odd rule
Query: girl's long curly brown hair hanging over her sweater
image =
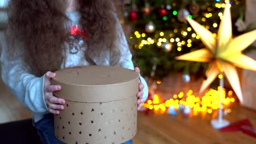
[[(117, 34), (117, 3), (114, 0), (78, 0), (80, 25), (88, 33), (84, 57), (90, 64), (109, 51), (110, 65), (120, 65)], [(10, 0), (5, 38), (9, 56), (22, 51), (24, 62), (36, 76), (60, 69), (65, 56), (64, 44), (71, 43), (65, 0)]]

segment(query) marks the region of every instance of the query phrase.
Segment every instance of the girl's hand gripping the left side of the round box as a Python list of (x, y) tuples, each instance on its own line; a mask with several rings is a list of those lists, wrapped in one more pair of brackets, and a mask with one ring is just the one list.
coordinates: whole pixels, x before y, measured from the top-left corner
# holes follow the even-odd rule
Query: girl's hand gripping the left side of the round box
[(48, 71), (45, 74), (45, 80), (44, 80), (44, 99), (46, 102), (46, 105), (48, 106), (48, 110), (51, 113), (60, 114), (60, 110), (64, 110), (64, 104), (65, 100), (57, 98), (53, 95), (53, 92), (60, 91), (61, 86), (60, 85), (51, 85), (50, 79), (55, 77), (56, 73), (51, 73)]

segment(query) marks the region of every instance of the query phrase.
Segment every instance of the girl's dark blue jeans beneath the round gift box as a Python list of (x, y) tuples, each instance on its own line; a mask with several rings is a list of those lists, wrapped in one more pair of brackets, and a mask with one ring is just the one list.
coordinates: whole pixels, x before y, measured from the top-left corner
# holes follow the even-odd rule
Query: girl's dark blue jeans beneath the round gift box
[[(63, 144), (54, 135), (54, 115), (49, 113), (44, 115), (38, 122), (33, 122), (34, 127), (37, 129), (37, 133), (43, 144)], [(129, 140), (123, 144), (132, 144), (132, 140)]]

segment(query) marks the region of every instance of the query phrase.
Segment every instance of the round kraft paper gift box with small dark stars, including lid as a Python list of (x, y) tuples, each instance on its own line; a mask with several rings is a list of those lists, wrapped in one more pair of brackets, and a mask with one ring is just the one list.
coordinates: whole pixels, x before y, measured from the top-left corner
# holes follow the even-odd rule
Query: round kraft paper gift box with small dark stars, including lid
[(123, 143), (137, 132), (139, 75), (110, 66), (73, 67), (56, 71), (54, 95), (66, 100), (54, 116), (55, 135), (65, 143)]

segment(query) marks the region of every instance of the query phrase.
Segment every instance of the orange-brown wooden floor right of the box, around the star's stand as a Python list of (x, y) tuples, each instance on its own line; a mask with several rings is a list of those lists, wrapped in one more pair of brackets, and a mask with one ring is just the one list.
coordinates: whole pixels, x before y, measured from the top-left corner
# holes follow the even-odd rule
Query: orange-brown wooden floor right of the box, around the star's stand
[[(243, 107), (234, 107), (225, 118), (236, 122), (248, 118), (256, 128), (256, 112)], [(138, 133), (134, 137), (136, 144), (140, 143), (256, 143), (256, 139), (241, 132), (222, 132), (213, 129), (210, 119), (213, 115), (205, 117), (198, 115), (184, 117), (182, 113), (170, 116), (160, 113), (138, 115)]]

